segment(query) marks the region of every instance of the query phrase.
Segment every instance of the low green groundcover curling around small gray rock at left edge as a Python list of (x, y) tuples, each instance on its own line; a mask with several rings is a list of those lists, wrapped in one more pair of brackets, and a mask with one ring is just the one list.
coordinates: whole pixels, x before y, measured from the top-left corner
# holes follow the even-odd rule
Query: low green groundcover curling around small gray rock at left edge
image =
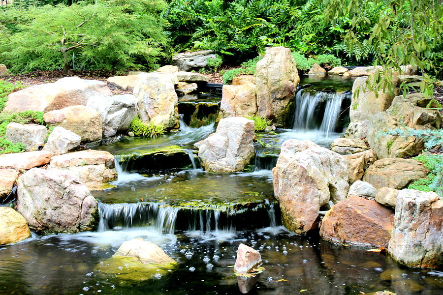
[(13, 144), (5, 139), (6, 127), (9, 123), (15, 122), (20, 124), (34, 123), (43, 125), (43, 112), (25, 111), (22, 113), (0, 113), (0, 154), (11, 152), (25, 151), (25, 146), (21, 143)]

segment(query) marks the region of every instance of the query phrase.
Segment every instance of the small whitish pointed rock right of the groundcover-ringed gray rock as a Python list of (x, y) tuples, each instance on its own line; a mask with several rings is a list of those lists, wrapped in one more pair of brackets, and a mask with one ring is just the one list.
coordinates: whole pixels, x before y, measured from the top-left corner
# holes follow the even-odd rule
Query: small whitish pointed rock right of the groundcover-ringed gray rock
[(61, 155), (80, 146), (82, 138), (74, 132), (57, 126), (52, 130), (48, 141), (42, 150), (49, 151), (53, 155)]

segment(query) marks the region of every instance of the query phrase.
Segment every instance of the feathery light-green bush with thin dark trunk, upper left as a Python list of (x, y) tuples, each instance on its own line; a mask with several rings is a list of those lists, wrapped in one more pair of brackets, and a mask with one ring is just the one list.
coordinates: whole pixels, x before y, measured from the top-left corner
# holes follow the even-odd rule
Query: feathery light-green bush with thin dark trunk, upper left
[(163, 0), (0, 9), (0, 60), (13, 72), (155, 68), (167, 43)]

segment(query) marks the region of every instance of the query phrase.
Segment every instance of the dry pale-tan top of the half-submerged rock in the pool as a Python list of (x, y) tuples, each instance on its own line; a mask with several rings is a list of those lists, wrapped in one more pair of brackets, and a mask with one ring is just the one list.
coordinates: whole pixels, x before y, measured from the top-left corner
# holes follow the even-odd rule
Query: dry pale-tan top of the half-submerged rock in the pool
[(114, 257), (132, 258), (142, 264), (164, 265), (176, 263), (156, 244), (139, 237), (124, 242), (115, 252)]

